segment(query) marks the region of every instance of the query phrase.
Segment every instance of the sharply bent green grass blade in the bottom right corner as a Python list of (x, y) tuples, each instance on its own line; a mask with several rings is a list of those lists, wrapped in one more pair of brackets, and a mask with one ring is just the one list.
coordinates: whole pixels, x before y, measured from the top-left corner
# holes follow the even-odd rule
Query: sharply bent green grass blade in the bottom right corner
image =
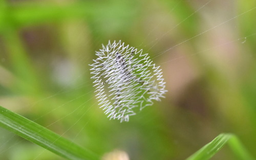
[(238, 138), (229, 133), (222, 133), (218, 135), (214, 140), (210, 143), (206, 144), (204, 147), (199, 149), (196, 153), (189, 156), (186, 160), (206, 160), (210, 159), (214, 156), (226, 143), (228, 142), (229, 146), (231, 147), (232, 151), (236, 153), (236, 155), (240, 159), (250, 160), (254, 159), (249, 153), (245, 150), (242, 146)]

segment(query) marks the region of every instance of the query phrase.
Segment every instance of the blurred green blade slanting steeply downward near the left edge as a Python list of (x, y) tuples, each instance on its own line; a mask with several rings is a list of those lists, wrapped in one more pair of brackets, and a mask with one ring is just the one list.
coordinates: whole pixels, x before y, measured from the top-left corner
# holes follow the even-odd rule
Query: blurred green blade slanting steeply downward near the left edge
[(16, 85), (12, 89), (16, 91), (22, 90), (23, 93), (34, 95), (40, 93), (41, 87), (38, 74), (24, 48), (24, 41), (20, 38), (19, 33), (9, 28), (3, 34), (3, 38), (5, 39), (6, 49), (9, 51), (12, 70), (16, 76)]

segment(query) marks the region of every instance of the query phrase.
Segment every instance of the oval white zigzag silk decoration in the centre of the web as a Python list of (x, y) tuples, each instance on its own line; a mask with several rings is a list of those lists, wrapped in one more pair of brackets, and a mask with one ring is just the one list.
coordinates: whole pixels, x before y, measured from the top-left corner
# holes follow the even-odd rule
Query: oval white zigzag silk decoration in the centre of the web
[(160, 66), (142, 50), (109, 41), (96, 55), (91, 78), (100, 108), (110, 119), (129, 121), (130, 116), (153, 105), (152, 100), (164, 98), (167, 90)]

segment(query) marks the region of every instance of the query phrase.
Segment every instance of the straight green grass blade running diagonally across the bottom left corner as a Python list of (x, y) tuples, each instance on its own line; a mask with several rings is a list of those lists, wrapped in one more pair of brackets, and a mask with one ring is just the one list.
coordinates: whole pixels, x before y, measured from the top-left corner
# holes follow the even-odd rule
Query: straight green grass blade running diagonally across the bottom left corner
[(0, 126), (68, 159), (99, 159), (62, 136), (0, 106)]

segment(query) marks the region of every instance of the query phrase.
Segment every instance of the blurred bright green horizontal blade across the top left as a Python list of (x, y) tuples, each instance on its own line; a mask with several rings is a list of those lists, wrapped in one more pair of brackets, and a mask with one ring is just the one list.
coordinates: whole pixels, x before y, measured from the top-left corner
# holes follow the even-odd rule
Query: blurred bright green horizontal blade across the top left
[[(67, 18), (86, 17), (92, 7), (89, 3), (73, 3), (65, 5), (22, 3), (18, 6), (0, 4), (0, 23), (2, 29), (40, 24)], [(7, 28), (8, 29), (8, 28)]]

